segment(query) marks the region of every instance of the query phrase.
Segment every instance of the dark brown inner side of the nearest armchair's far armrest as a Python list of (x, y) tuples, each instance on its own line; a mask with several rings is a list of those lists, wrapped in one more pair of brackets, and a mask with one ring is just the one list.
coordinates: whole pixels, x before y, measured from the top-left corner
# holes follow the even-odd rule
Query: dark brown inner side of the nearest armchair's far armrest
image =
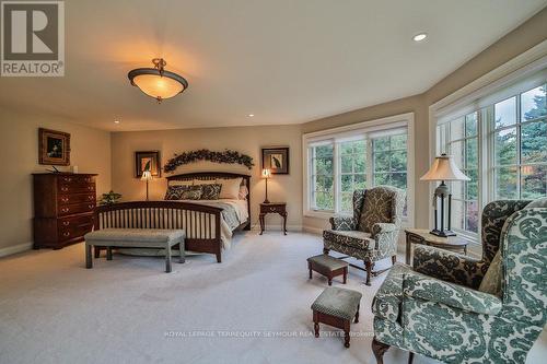
[(484, 261), (456, 253), (417, 246), (414, 249), (412, 268), (442, 281), (477, 289), (488, 269)]

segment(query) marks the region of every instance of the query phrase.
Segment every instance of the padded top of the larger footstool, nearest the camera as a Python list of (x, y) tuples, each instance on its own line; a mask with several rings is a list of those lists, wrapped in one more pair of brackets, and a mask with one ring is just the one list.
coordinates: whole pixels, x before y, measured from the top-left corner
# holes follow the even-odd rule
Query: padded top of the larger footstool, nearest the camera
[(322, 314), (351, 320), (357, 313), (362, 294), (357, 291), (327, 287), (312, 304)]

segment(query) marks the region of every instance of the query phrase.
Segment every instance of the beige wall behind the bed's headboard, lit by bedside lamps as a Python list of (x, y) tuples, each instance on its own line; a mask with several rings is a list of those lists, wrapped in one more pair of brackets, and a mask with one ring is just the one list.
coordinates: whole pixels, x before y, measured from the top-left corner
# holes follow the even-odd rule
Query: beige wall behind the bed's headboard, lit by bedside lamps
[[(287, 201), (288, 225), (300, 228), (302, 225), (302, 152), (300, 126), (275, 127), (236, 127), (181, 129), (165, 131), (115, 132), (112, 137), (113, 188), (120, 192), (125, 200), (144, 198), (144, 184), (135, 178), (135, 152), (159, 150), (162, 164), (174, 153), (197, 149), (223, 151), (235, 150), (251, 155), (255, 166), (248, 171), (244, 166), (213, 164), (210, 162), (194, 163), (181, 166), (177, 173), (197, 171), (228, 171), (249, 174), (252, 196), (252, 223), (258, 221), (258, 203), (264, 200), (265, 181), (260, 179), (260, 148), (289, 146), (290, 174), (275, 175), (268, 183), (270, 201)], [(150, 199), (163, 199), (166, 189), (165, 175), (150, 185)], [(267, 224), (279, 226), (280, 216), (268, 215)]]

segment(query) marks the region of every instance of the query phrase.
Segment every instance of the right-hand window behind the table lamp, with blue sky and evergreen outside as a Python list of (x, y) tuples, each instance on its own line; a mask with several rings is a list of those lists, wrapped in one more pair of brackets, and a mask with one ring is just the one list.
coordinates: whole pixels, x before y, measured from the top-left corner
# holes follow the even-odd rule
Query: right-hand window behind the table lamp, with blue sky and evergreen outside
[(479, 207), (492, 200), (547, 196), (545, 77), (516, 89), (476, 101), (474, 111), (438, 126), (437, 151), (452, 155), (470, 178), (450, 184), (452, 228), (464, 234), (478, 234)]

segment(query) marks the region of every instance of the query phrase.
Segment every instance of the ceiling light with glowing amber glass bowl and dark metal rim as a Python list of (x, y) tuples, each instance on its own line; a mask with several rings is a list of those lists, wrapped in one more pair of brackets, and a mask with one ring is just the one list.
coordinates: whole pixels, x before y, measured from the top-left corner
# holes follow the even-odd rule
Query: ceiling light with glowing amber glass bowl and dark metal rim
[(127, 77), (133, 86), (158, 99), (158, 103), (188, 89), (188, 81), (182, 75), (165, 71), (167, 62), (163, 58), (154, 58), (152, 63), (154, 68), (138, 68), (129, 71)]

